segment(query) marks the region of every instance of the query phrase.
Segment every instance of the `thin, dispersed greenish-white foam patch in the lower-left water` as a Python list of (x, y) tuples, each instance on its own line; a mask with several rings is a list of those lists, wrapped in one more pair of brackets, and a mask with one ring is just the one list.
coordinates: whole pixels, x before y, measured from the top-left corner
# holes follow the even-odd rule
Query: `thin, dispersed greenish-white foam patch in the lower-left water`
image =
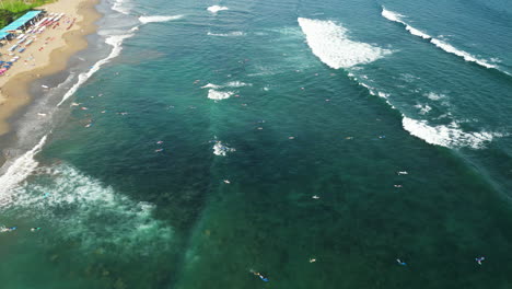
[(172, 229), (152, 217), (152, 204), (135, 201), (68, 164), (47, 167), (35, 181), (16, 188), (10, 210), (46, 219), (54, 234), (88, 252), (150, 254), (171, 246)]

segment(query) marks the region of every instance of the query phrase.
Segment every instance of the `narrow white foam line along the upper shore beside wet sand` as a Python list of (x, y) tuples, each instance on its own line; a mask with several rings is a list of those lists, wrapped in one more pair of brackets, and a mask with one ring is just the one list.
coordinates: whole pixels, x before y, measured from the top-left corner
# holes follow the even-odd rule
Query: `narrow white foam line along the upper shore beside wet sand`
[[(130, 32), (133, 32), (136, 31), (137, 26), (131, 28)], [(60, 106), (62, 103), (65, 103), (69, 97), (71, 97), (71, 95), (73, 95), (78, 89), (83, 84), (85, 83), (85, 81), (88, 81), (88, 79), (90, 79), (96, 71), (100, 70), (100, 68), (105, 65), (105, 63), (108, 63), (113, 58), (119, 56), (120, 51), (123, 50), (123, 42), (126, 39), (126, 38), (129, 38), (133, 36), (133, 34), (124, 34), (124, 35), (114, 35), (114, 36), (108, 36), (106, 39), (105, 39), (105, 43), (108, 44), (108, 45), (112, 45), (114, 48), (112, 49), (110, 54), (105, 57), (104, 59), (97, 61), (88, 72), (84, 72), (84, 73), (80, 73), (79, 78), (78, 78), (78, 81), (77, 83), (74, 83), (73, 86), (71, 86), (71, 89), (66, 92), (66, 94), (62, 96), (62, 100), (57, 104), (57, 106)]]

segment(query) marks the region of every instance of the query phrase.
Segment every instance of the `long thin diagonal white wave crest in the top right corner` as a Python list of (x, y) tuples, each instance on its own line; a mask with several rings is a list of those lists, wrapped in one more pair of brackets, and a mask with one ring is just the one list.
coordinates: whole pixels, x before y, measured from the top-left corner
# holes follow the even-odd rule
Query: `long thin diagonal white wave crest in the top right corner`
[[(427, 33), (423, 33), (423, 32), (410, 26), (409, 24), (407, 24), (405, 21), (402, 20), (403, 15), (400, 15), (398, 13), (395, 13), (393, 11), (386, 10), (384, 7), (382, 8), (382, 15), (387, 20), (391, 20), (391, 21), (396, 22), (396, 23), (400, 23), (402, 25), (405, 26), (405, 28), (410, 34), (412, 34), (415, 36), (419, 36), (419, 37), (421, 37), (423, 39), (428, 39), (430, 43), (432, 43), (433, 45), (435, 45), (437, 47), (443, 49), (446, 53), (456, 55), (458, 57), (462, 57), (464, 60), (466, 60), (468, 62), (475, 62), (475, 63), (477, 63), (479, 66), (482, 66), (485, 68), (498, 69), (498, 66), (491, 65), (487, 60), (478, 59), (475, 56), (473, 56), (473, 55), (470, 55), (470, 54), (468, 54), (466, 51), (459, 50), (459, 49), (453, 47), (452, 45), (450, 45), (450, 44), (447, 44), (447, 43), (445, 43), (443, 41), (437, 39), (437, 38), (428, 35)], [(502, 71), (502, 72), (504, 72), (504, 71)], [(504, 72), (504, 73), (509, 74), (508, 72)]]

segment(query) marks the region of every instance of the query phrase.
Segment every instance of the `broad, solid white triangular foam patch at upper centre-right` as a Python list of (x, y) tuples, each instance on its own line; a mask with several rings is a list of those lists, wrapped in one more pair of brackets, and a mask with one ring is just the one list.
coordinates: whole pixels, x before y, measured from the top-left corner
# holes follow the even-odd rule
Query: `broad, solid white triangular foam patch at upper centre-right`
[(299, 18), (298, 21), (313, 54), (331, 68), (349, 68), (369, 63), (392, 53), (366, 43), (349, 39), (348, 31), (333, 21), (303, 18)]

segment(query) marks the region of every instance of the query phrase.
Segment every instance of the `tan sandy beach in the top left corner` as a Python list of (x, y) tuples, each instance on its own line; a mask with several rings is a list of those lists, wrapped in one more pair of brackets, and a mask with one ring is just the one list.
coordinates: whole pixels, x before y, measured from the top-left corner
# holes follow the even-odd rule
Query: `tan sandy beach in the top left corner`
[[(96, 31), (94, 22), (101, 16), (94, 8), (98, 1), (58, 0), (38, 8), (48, 13), (65, 13), (66, 19), (60, 25), (37, 34), (36, 41), (23, 54), (16, 54), (21, 58), (0, 77), (0, 135), (9, 131), (9, 117), (32, 97), (37, 97), (28, 94), (28, 84), (66, 69), (69, 57), (88, 46), (84, 36)], [(73, 20), (73, 25), (68, 30)], [(9, 47), (0, 48), (4, 61), (10, 57)]]

